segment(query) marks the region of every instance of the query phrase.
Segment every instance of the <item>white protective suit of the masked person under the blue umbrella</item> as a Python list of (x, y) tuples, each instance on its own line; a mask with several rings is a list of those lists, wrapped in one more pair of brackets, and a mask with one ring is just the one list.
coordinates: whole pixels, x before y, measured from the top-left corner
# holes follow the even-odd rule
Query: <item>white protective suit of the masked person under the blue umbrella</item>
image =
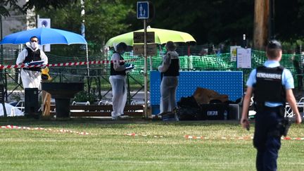
[[(37, 46), (36, 49), (32, 49), (32, 46), (30, 46), (30, 42), (27, 42), (25, 44), (28, 48), (30, 48), (32, 51), (40, 51), (40, 58), (42, 61), (44, 61), (43, 64), (48, 63), (48, 58), (46, 54), (39, 49), (39, 46)], [(27, 56), (27, 50), (23, 49), (18, 55), (18, 58), (16, 60), (17, 65), (21, 65), (23, 61), (25, 61), (25, 57)], [(23, 88), (38, 88), (40, 87), (40, 82), (42, 81), (41, 72), (39, 71), (32, 71), (32, 70), (21, 70), (21, 80), (23, 82)]]

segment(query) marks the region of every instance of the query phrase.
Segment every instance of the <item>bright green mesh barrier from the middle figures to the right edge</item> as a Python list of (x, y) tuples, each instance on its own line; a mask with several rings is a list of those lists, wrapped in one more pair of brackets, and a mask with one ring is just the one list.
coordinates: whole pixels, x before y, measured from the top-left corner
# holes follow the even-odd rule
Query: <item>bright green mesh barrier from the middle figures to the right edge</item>
[[(163, 53), (158, 52), (157, 56), (152, 56), (152, 69), (157, 70), (158, 65), (162, 63)], [(129, 56), (125, 54), (125, 59), (134, 58), (134, 56)], [(251, 68), (236, 68), (236, 61), (231, 61), (230, 53), (221, 53), (214, 55), (205, 56), (179, 56), (181, 70), (239, 70), (243, 71), (243, 82), (244, 85), (248, 80), (248, 76), (253, 68), (257, 68), (263, 65), (267, 61), (265, 56), (265, 51), (255, 51), (251, 52)], [(148, 57), (148, 70), (150, 70), (150, 58)], [(285, 68), (289, 69), (293, 74), (293, 79), (295, 81), (295, 87), (298, 87), (298, 83), (302, 82), (303, 75), (303, 65), (301, 56), (298, 54), (283, 54), (280, 64)], [(137, 70), (144, 70), (144, 58), (139, 58), (138, 61), (134, 62), (137, 66)], [(131, 73), (132, 75), (133, 73)], [(139, 77), (139, 79), (142, 79)]]

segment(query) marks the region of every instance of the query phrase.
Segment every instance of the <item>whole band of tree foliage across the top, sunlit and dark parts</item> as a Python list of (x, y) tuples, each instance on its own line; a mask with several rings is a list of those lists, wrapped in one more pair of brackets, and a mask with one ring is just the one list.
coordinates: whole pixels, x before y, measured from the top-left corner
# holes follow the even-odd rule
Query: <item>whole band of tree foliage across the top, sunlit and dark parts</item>
[[(0, 15), (8, 16), (4, 6), (25, 11), (35, 7), (42, 18), (51, 18), (52, 27), (80, 33), (80, 0), (0, 1)], [(240, 44), (242, 35), (253, 39), (254, 1), (201, 0), (156, 1), (155, 17), (148, 25), (192, 34), (197, 44), (225, 42)], [(85, 0), (86, 39), (93, 49), (118, 34), (143, 28), (136, 17), (137, 0)], [(303, 39), (304, 0), (275, 1), (274, 33), (281, 41)], [(92, 49), (92, 48), (90, 48)]]

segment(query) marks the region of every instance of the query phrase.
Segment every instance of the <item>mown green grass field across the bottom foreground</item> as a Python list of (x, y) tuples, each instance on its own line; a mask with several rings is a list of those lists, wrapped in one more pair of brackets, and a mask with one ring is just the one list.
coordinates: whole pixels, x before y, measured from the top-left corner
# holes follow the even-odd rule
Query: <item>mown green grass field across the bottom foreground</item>
[[(52, 129), (1, 128), (0, 170), (255, 170), (252, 140), (231, 139), (253, 136), (253, 125), (247, 132), (238, 121), (0, 118), (0, 125)], [(304, 125), (292, 125), (289, 137), (304, 137)], [(278, 170), (304, 170), (304, 140), (281, 143)]]

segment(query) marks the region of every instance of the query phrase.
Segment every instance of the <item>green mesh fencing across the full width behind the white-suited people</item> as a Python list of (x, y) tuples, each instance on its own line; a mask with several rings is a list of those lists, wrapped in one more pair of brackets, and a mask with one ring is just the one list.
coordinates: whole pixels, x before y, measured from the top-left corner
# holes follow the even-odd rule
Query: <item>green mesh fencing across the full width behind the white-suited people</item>
[[(196, 47), (196, 49), (201, 49)], [(179, 49), (182, 49), (179, 46)], [(185, 48), (186, 49), (186, 48)], [(191, 49), (194, 49), (194, 46), (191, 46)], [(193, 50), (191, 50), (193, 51)], [(99, 55), (90, 55), (89, 61), (103, 61), (110, 60), (113, 51), (108, 51), (107, 53), (101, 53)], [(186, 51), (181, 51), (179, 53), (181, 70), (189, 71), (202, 71), (202, 70), (221, 70), (221, 71), (243, 71), (243, 84), (246, 84), (248, 75), (250, 74), (253, 68), (262, 65), (266, 60), (265, 51), (251, 51), (251, 65), (252, 68), (236, 68), (236, 62), (231, 61), (230, 53), (217, 53), (209, 55), (201, 55), (201, 53), (191, 53), (191, 56), (187, 56)], [(15, 64), (15, 58), (18, 55), (16, 51), (4, 51), (4, 62), (2, 65), (12, 65)], [(51, 53), (46, 54), (49, 57), (49, 63), (67, 63), (67, 62), (79, 62), (87, 61), (85, 56), (55, 56)], [(148, 57), (147, 69), (157, 70), (158, 66), (162, 63), (162, 56), (164, 55), (163, 51), (159, 51), (156, 56)], [(135, 80), (130, 84), (143, 84), (144, 82), (144, 57), (133, 56), (132, 53), (126, 52), (123, 56), (126, 60), (131, 58), (138, 58), (137, 61), (134, 61), (136, 68), (133, 72), (130, 72)], [(152, 61), (150, 62), (150, 59)], [(295, 81), (295, 87), (299, 87), (299, 84), (303, 82), (303, 58), (299, 54), (283, 54), (281, 58), (281, 65), (285, 68), (291, 70), (293, 78)], [(151, 65), (152, 64), (152, 65)], [(90, 65), (90, 75), (91, 76), (104, 76), (108, 77), (110, 64), (101, 64), (101, 65)], [(11, 70), (8, 70), (11, 72)], [(71, 67), (54, 67), (50, 68), (50, 72), (53, 73), (64, 73), (64, 75), (77, 75), (82, 79), (82, 77), (87, 75), (87, 65), (82, 66), (71, 66)], [(72, 76), (67, 76), (72, 77)]]

